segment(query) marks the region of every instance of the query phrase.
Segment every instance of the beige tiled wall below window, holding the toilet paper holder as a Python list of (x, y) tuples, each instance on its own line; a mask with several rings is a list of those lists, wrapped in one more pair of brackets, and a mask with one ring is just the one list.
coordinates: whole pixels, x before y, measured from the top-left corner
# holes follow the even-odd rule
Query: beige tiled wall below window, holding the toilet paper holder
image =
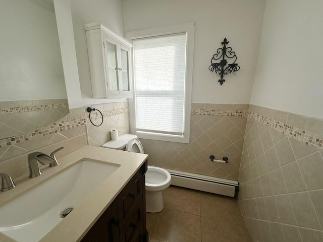
[[(190, 143), (140, 139), (149, 164), (238, 179), (249, 104), (192, 103)], [(211, 162), (210, 155), (227, 164)]]

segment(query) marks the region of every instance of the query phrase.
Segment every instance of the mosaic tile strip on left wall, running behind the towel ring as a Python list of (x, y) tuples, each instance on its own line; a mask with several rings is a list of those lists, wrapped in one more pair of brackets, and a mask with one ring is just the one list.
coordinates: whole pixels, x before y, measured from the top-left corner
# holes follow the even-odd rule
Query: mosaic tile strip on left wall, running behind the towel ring
[[(113, 115), (127, 113), (127, 112), (129, 112), (129, 107), (105, 110), (105, 111), (102, 111), (102, 114), (103, 114), (103, 117), (108, 117), (108, 116), (113, 116)], [(95, 116), (98, 116), (98, 118), (101, 118), (101, 115), (98, 112), (95, 114)], [(20, 142), (25, 142), (28, 140), (37, 139), (39, 137), (43, 137), (46, 135), (62, 132), (64, 130), (70, 130), (76, 127), (80, 127), (85, 125), (88, 119), (89, 119), (88, 115), (83, 117), (71, 118), (68, 120), (63, 120), (61, 122), (53, 123), (49, 126), (46, 126), (44, 128), (41, 128), (31, 133), (26, 133), (23, 135), (17, 135), (17, 136), (8, 137), (8, 138), (2, 138), (0, 139), (0, 148), (14, 145)]]

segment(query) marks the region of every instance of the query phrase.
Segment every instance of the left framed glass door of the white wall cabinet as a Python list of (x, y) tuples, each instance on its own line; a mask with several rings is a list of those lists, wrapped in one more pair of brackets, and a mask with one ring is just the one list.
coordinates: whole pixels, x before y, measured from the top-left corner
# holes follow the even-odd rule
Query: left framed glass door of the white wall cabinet
[(104, 55), (105, 55), (105, 75), (106, 85), (109, 94), (119, 94), (119, 70), (118, 70), (118, 43), (105, 35)]

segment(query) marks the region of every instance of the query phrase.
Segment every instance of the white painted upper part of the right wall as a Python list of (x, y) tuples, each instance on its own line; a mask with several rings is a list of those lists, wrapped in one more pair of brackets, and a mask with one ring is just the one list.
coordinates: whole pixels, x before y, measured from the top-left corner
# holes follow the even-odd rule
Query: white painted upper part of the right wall
[(251, 103), (323, 117), (323, 1), (267, 0)]

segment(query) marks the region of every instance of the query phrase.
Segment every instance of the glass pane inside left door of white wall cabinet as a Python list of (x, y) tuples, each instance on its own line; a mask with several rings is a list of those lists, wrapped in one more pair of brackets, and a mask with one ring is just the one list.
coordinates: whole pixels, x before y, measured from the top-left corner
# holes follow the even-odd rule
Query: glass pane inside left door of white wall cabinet
[(117, 61), (117, 44), (105, 41), (106, 55), (106, 75), (109, 78), (109, 88), (111, 93), (119, 92), (118, 61)]

